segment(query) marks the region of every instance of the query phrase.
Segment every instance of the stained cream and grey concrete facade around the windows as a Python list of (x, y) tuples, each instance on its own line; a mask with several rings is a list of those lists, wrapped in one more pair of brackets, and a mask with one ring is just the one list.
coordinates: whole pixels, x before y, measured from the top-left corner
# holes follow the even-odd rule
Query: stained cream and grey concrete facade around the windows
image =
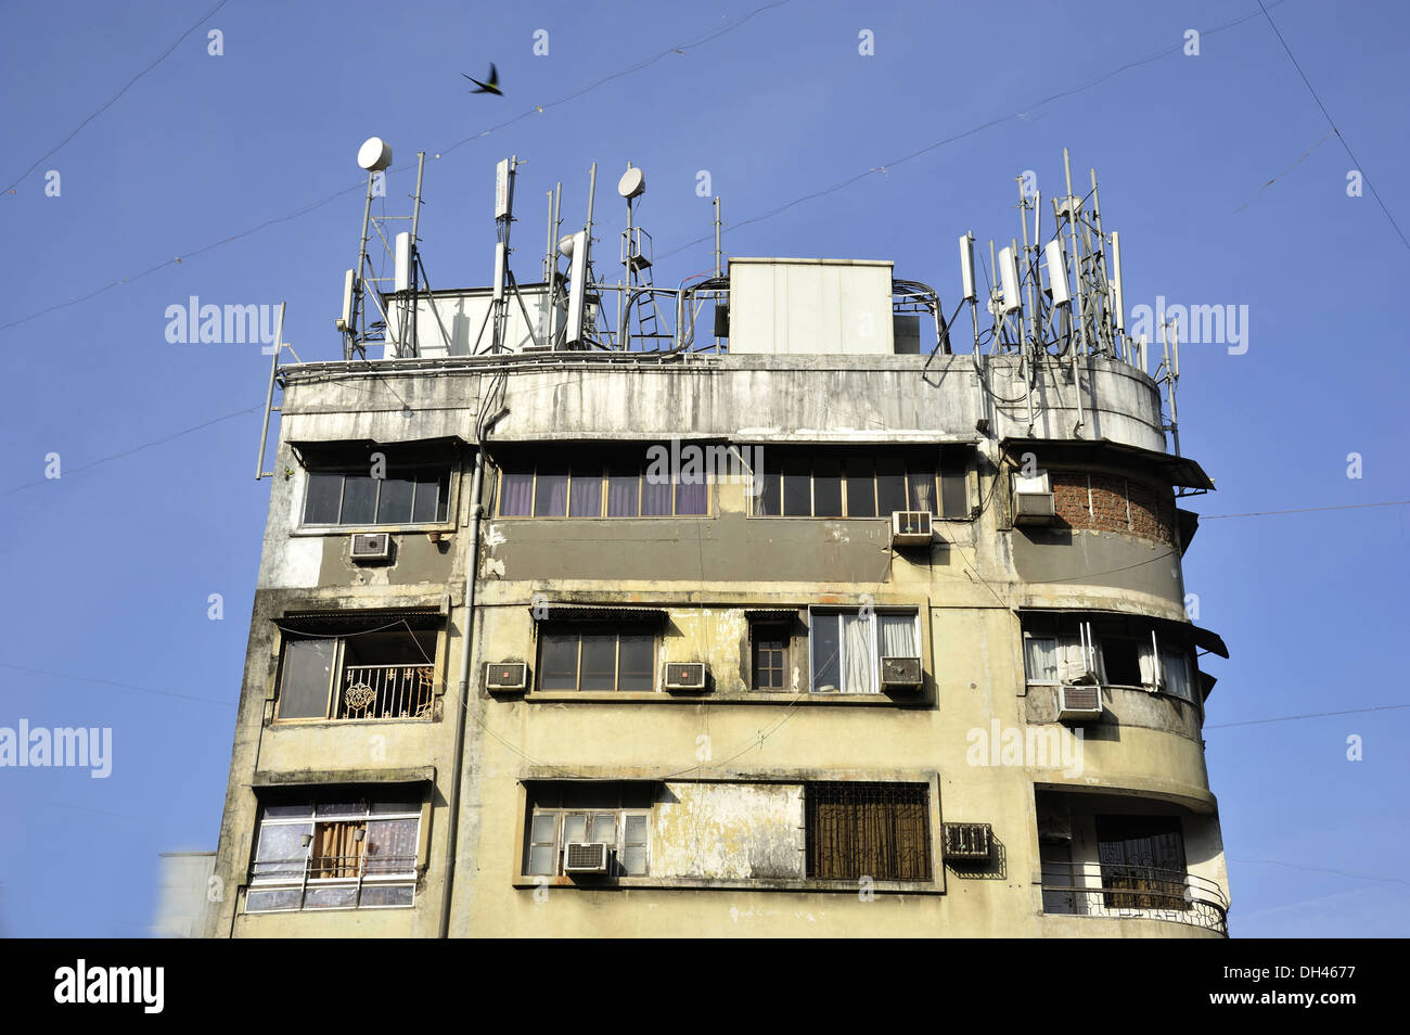
[[(1084, 360), (1076, 375), (1070, 361), (1053, 361), (1039, 367), (1029, 409), (1026, 399), (1001, 402), (1024, 395), (1012, 357), (797, 353), (553, 353), (285, 368), (214, 867), (226, 893), (209, 933), (1220, 935), (1227, 874), (1201, 694), (1104, 685), (1098, 721), (1063, 725), (1058, 687), (1025, 674), (1025, 629), (1038, 627), (1035, 616), (1115, 615), (1149, 622), (1162, 646), (1187, 651), (1191, 681), (1200, 682), (1193, 659), (1211, 637), (1186, 618), (1187, 543), (1173, 515), (1177, 485), (1210, 485), (1197, 467), (1165, 453), (1153, 382), (1117, 360)], [(489, 403), (499, 416), (481, 441), (477, 419)], [(723, 477), (708, 485), (705, 515), (503, 513), (502, 464), (512, 458), (548, 463), (595, 443), (673, 440), (766, 454), (788, 446), (959, 448), (967, 506), (962, 516), (938, 516), (933, 540), (919, 549), (893, 544), (890, 515), (756, 516), (747, 482)], [(358, 455), (398, 444), (429, 450), (451, 472), (446, 519), (306, 525), (320, 443)], [(1096, 520), (1093, 509), (1091, 520), (1059, 515), (1050, 525), (1015, 525), (1012, 475), (1025, 453), (1041, 467), (1139, 485), (1165, 523), (1153, 532), (1132, 520), (1122, 530), (1114, 519)], [(391, 533), (392, 560), (354, 560), (350, 533), (378, 529)], [(415, 612), (431, 629), (426, 715), (282, 721), (282, 659), (307, 620), (298, 616), (374, 609), (389, 623)], [(811, 685), (819, 616), (863, 609), (915, 615), (918, 690)], [(592, 629), (613, 615), (633, 629), (649, 626), (654, 685), (543, 688), (541, 651), (546, 630), (558, 627), (556, 613), (596, 615)], [(788, 644), (778, 688), (754, 687), (750, 644), (761, 622), (783, 629)], [(523, 692), (486, 687), (486, 666), (505, 663), (527, 666)], [(667, 691), (663, 673), (673, 663), (704, 663), (704, 692)], [(898, 783), (924, 788), (928, 843), (911, 850), (926, 859), (928, 878), (812, 871), (809, 788)], [(412, 904), (247, 908), (258, 887), (262, 816), (299, 795), (340, 794), (419, 804)], [(612, 794), (632, 804), (613, 805)], [(619, 832), (626, 816), (644, 816), (646, 871), (532, 873), (536, 809), (570, 800), (588, 801), (580, 809), (588, 814), (612, 812)], [(1053, 811), (1066, 816), (1056, 832), (1048, 829)], [(1101, 869), (1096, 823), (1128, 814), (1176, 832), (1204, 902), (1198, 915), (1101, 890), (1110, 867)], [(988, 856), (950, 859), (946, 823), (988, 825)], [(626, 852), (627, 835), (618, 836), (616, 850)], [(1053, 846), (1076, 867), (1069, 880), (1050, 871)], [(561, 856), (561, 847), (556, 842), (553, 852)], [(1053, 887), (1079, 888), (1065, 901), (1083, 908), (1060, 907)]]

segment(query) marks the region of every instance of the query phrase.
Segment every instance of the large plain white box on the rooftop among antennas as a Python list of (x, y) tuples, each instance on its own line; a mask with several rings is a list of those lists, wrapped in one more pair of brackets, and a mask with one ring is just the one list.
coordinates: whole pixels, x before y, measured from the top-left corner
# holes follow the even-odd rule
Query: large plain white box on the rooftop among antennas
[(730, 258), (733, 355), (894, 355), (891, 262)]

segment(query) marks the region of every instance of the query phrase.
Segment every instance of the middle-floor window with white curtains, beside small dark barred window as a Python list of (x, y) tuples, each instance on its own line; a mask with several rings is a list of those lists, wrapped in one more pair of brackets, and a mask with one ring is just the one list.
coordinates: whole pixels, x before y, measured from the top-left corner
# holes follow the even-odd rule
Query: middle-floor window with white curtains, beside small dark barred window
[(814, 692), (878, 694), (880, 659), (919, 657), (918, 615), (809, 609)]

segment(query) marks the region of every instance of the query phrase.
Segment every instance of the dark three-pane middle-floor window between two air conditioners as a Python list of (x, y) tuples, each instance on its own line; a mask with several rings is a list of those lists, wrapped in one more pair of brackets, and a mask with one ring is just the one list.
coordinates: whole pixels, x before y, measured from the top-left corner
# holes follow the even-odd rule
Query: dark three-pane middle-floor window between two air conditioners
[(656, 690), (656, 629), (544, 626), (539, 690)]

